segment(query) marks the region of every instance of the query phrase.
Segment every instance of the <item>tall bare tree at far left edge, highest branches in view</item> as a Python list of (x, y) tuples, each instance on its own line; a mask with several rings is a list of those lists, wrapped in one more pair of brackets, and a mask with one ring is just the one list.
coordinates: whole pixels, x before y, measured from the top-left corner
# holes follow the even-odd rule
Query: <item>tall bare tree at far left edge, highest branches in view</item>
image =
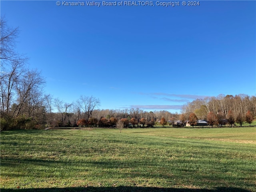
[(9, 27), (4, 17), (0, 19), (0, 28), (0, 110), (9, 115), (15, 99), (14, 87), (25, 72), (24, 64), (27, 58), (15, 51), (18, 28)]

